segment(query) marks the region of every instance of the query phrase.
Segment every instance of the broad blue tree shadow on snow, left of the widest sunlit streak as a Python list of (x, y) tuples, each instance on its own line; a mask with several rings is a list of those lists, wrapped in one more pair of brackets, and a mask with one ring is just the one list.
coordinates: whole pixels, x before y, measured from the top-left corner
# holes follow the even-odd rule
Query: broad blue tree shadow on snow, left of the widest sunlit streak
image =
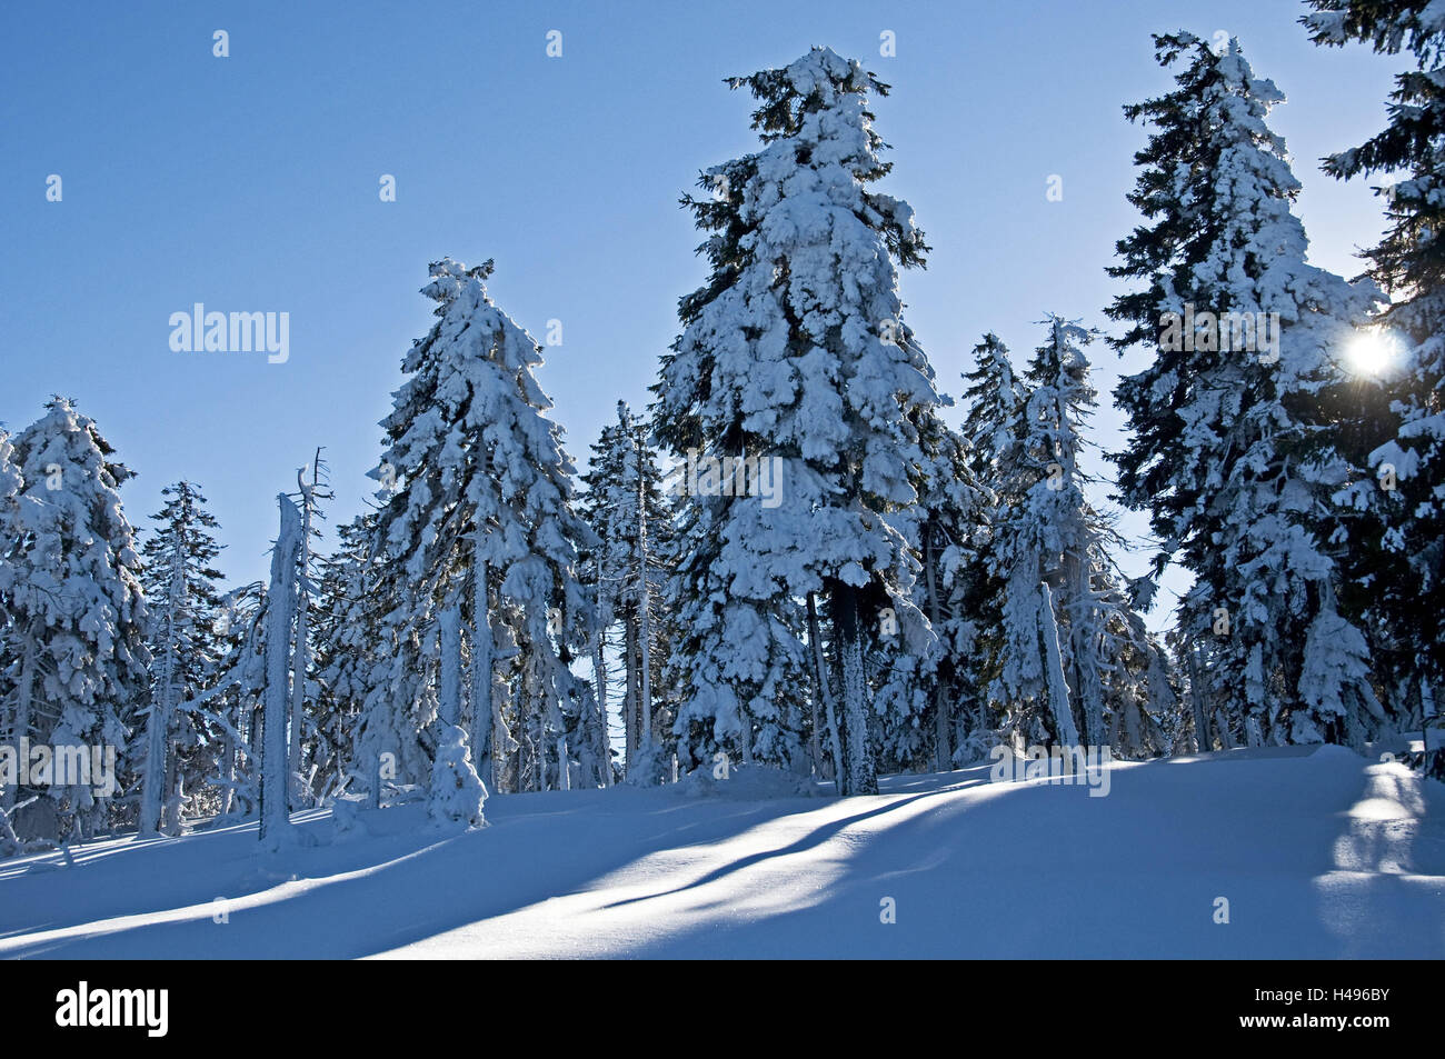
[[(565, 825), (569, 812), (507, 796), (488, 802), (490, 826), (480, 831), (439, 837), (418, 826), (276, 857), (256, 854), (254, 825), (238, 826), (197, 837), (217, 847), (201, 871), (197, 848), (186, 842), (146, 850), (144, 855), (160, 861), (147, 864), (143, 880), (127, 864), (126, 848), (107, 851), (74, 870), (90, 878), (81, 890), (64, 887), (71, 910), (53, 903), (40, 907), (39, 899), (26, 910), (23, 889), (38, 894), (49, 874), (0, 887), (0, 907), (20, 913), (0, 920), (10, 938), (6, 942), (0, 935), (0, 952), (100, 959), (364, 956), (507, 915), (545, 896), (585, 891), (659, 848), (725, 842), (760, 822), (834, 803), (676, 798), (657, 805), (656, 795), (639, 792), (643, 808), (629, 792), (617, 793), (564, 792), (562, 798), (601, 802), (571, 826)], [(610, 796), (616, 808), (608, 806)], [(383, 812), (406, 811), (420, 825), (423, 806)], [(559, 825), (566, 826), (562, 841)], [(139, 854), (142, 847), (129, 852)], [(144, 889), (137, 886), (142, 881)], [(214, 904), (215, 899), (224, 904)], [(218, 923), (214, 913), (223, 910), (225, 922)], [(147, 916), (162, 922), (144, 922)]]

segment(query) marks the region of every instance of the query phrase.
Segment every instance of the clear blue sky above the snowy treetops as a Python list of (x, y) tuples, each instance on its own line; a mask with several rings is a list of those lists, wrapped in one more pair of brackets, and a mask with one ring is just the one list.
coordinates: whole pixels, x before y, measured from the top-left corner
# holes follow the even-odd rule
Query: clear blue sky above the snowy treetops
[[(561, 321), (539, 379), (581, 462), (620, 397), (647, 400), (676, 299), (702, 279), (678, 196), (754, 144), (750, 100), (722, 78), (811, 45), (893, 87), (874, 107), (896, 166), (884, 188), (933, 247), (903, 296), (949, 393), (985, 329), (1022, 364), (1046, 311), (1108, 324), (1104, 267), (1136, 222), (1124, 192), (1144, 136), (1120, 108), (1169, 87), (1150, 32), (1237, 35), (1290, 98), (1272, 126), (1315, 264), (1355, 275), (1381, 228), (1368, 188), (1318, 159), (1380, 127), (1397, 64), (1315, 48), (1287, 0), (77, 7), (0, 14), (0, 422), (74, 397), (139, 472), (124, 490), (139, 526), (165, 484), (201, 483), (233, 582), (264, 575), (275, 496), (315, 446), (329, 524), (361, 510), (376, 423), (431, 324), (418, 289), (444, 254), (494, 257), (493, 298), (539, 340)], [(195, 302), (289, 312), (289, 360), (172, 351), (169, 316)], [(1101, 345), (1094, 361), (1113, 446), (1108, 392), (1140, 361)]]

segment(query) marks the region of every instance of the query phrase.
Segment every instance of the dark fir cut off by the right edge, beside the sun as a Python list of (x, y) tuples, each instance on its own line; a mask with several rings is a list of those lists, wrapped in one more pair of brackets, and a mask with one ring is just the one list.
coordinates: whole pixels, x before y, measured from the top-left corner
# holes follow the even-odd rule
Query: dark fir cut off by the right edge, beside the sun
[[(1381, 380), (1387, 409), (1355, 419), (1374, 488), (1348, 497), (1376, 516), (1353, 542), (1351, 574), (1367, 598), (1371, 649), (1392, 691), (1413, 711), (1441, 717), (1445, 621), (1436, 604), (1445, 569), (1445, 7), (1428, 0), (1311, 0), (1319, 45), (1363, 42), (1412, 62), (1394, 78), (1389, 123), (1358, 147), (1325, 159), (1348, 179), (1399, 175), (1376, 188), (1389, 227), (1367, 250), (1371, 277), (1392, 298), (1381, 322), (1405, 357)], [(1432, 745), (1438, 745), (1438, 737)]]

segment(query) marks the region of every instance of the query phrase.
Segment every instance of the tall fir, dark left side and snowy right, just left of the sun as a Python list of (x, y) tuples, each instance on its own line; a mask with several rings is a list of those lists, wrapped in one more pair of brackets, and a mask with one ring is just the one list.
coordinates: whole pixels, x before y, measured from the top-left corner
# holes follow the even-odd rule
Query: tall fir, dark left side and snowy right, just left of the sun
[(1274, 84), (1235, 40), (1155, 40), (1182, 69), (1172, 92), (1126, 107), (1152, 127), (1129, 196), (1146, 222), (1110, 273), (1143, 286), (1107, 312), (1129, 325), (1117, 348), (1155, 355), (1116, 392), (1133, 429), (1121, 497), (1150, 511), (1159, 563), (1195, 578), (1181, 623), (1220, 718), (1199, 744), (1358, 744), (1386, 718), (1338, 605), (1348, 540), (1331, 497), (1368, 472), (1341, 454), (1319, 393), (1374, 289), (1305, 263), (1299, 182), (1266, 126)]

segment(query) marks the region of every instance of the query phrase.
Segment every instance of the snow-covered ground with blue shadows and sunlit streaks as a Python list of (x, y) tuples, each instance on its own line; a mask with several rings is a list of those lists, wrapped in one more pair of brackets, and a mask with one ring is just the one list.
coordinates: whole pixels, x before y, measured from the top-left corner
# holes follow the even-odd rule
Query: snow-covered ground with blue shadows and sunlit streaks
[(253, 825), (3, 861), (0, 955), (1445, 956), (1445, 786), (1338, 747), (1114, 763), (1103, 798), (736, 776), (493, 798), (460, 835), (302, 813), (316, 844), (269, 858)]

